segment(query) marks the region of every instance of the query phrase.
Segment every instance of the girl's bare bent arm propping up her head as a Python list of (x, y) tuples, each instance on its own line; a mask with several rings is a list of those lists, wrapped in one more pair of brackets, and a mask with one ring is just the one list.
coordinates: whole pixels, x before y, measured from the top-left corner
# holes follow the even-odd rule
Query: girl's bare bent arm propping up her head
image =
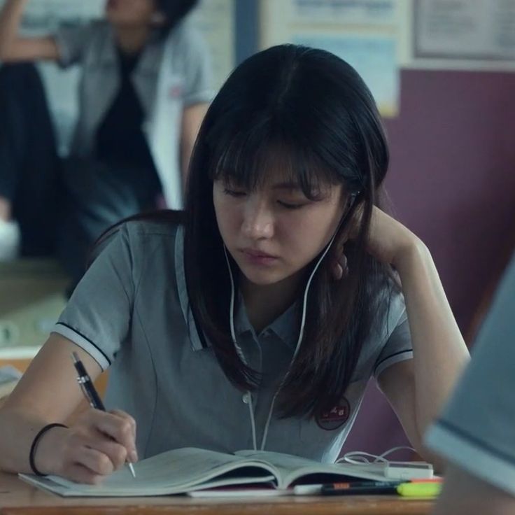
[(411, 231), (374, 208), (369, 252), (393, 265), (402, 282), (413, 360), (379, 375), (379, 386), (409, 436), (426, 459), (422, 437), (470, 359), (428, 248)]

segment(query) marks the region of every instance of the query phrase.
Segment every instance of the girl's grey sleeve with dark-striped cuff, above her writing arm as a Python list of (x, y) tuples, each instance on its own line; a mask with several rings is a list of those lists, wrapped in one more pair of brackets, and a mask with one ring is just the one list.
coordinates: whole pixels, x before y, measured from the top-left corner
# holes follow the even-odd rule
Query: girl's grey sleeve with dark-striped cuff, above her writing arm
[(104, 244), (53, 328), (104, 370), (129, 334), (134, 281), (127, 226)]

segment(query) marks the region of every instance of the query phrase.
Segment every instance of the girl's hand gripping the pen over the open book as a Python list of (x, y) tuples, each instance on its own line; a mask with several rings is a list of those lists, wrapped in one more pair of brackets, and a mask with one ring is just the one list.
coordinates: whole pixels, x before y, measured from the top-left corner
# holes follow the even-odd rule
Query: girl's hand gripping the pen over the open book
[(128, 460), (138, 460), (136, 422), (124, 411), (87, 409), (71, 428), (52, 428), (34, 456), (38, 470), (78, 483), (98, 484)]

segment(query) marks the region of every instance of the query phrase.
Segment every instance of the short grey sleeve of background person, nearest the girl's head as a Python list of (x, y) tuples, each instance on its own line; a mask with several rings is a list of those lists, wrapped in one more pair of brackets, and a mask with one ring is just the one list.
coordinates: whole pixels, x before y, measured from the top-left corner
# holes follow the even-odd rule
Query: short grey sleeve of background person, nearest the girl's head
[(185, 22), (180, 28), (176, 55), (183, 61), (183, 104), (185, 107), (213, 99), (211, 52), (202, 34)]

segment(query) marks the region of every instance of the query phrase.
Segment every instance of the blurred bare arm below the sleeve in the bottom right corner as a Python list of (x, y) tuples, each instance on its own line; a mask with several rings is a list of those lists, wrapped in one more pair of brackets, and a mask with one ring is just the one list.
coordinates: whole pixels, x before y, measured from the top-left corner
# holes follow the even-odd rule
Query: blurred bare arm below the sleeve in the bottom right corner
[(515, 497), (449, 465), (433, 515), (513, 515)]

